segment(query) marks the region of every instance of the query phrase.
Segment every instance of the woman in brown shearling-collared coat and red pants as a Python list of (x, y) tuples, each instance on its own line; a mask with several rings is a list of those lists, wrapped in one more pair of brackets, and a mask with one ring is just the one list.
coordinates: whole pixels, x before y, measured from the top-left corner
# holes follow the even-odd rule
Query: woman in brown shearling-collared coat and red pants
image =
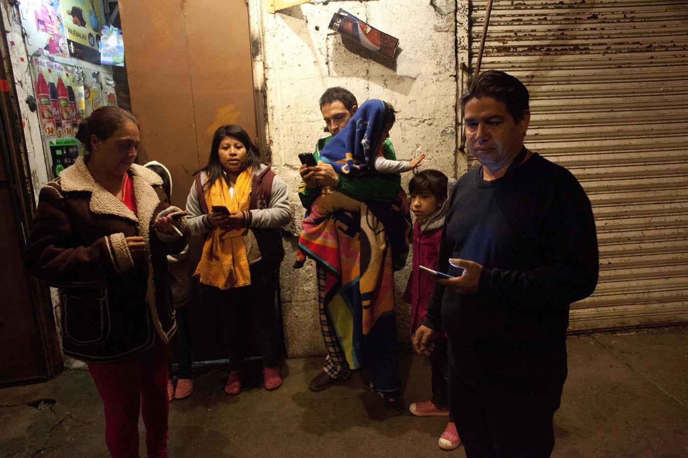
[(155, 172), (133, 163), (131, 113), (98, 108), (77, 138), (88, 154), (41, 190), (25, 258), (60, 290), (63, 350), (89, 367), (111, 455), (138, 456), (140, 409), (148, 456), (166, 457), (175, 332), (166, 255), (186, 244), (185, 212), (170, 207)]

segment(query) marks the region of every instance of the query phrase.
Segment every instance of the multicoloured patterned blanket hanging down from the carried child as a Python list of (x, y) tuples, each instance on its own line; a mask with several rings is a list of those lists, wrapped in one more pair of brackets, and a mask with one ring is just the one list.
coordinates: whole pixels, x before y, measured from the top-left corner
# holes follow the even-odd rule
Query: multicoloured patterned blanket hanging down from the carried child
[[(347, 210), (331, 212), (322, 211), (316, 200), (301, 223), (299, 247), (327, 266), (325, 312), (352, 369), (371, 357), (364, 357), (370, 351), (364, 340), (375, 342), (376, 359), (396, 353), (394, 267), (405, 263), (411, 228), (402, 195), (395, 205), (378, 205), (339, 194), (345, 202), (338, 207)], [(352, 211), (352, 203), (360, 211)]]

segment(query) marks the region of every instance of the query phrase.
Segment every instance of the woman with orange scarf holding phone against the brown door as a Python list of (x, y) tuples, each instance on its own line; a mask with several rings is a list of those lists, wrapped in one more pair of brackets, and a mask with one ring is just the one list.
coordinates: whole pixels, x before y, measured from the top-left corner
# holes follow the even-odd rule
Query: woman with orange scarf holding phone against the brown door
[(291, 220), (286, 184), (261, 164), (256, 146), (233, 124), (215, 131), (208, 164), (186, 201), (192, 235), (205, 236), (195, 276), (219, 309), (230, 374), (224, 391), (244, 382), (241, 338), (255, 335), (263, 357), (264, 386), (281, 386), (279, 314), (275, 295), (284, 257), (280, 228)]

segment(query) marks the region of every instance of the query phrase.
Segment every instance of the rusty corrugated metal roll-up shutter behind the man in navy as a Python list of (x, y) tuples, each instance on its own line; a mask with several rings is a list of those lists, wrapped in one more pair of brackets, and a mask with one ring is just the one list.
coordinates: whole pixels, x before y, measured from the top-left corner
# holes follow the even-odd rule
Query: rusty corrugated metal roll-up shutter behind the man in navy
[[(473, 67), (485, 8), (471, 2)], [(592, 201), (600, 279), (570, 329), (688, 321), (688, 1), (496, 0), (488, 69), (526, 84), (526, 146)]]

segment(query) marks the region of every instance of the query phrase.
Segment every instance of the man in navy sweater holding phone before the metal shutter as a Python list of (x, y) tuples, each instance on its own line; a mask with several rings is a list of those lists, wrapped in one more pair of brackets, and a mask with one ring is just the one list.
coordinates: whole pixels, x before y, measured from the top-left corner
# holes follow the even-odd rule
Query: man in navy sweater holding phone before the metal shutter
[(449, 338), (450, 410), (467, 457), (548, 457), (566, 380), (569, 304), (597, 283), (588, 196), (568, 170), (528, 150), (528, 90), (486, 71), (462, 98), (482, 164), (451, 196), (438, 279), (413, 344)]

